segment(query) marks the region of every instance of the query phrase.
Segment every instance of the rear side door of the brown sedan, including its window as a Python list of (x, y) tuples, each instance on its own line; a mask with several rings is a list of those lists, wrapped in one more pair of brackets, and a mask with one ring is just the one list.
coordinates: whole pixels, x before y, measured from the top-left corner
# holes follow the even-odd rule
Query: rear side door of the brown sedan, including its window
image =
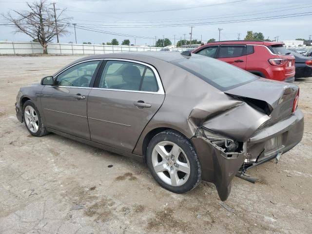
[(156, 69), (127, 59), (107, 59), (88, 97), (91, 140), (132, 152), (164, 100)]

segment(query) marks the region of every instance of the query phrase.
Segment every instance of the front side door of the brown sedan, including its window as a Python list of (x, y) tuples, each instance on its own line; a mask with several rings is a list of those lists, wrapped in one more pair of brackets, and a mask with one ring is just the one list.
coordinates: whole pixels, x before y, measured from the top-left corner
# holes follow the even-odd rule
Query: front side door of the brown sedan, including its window
[(90, 140), (87, 100), (102, 60), (74, 64), (54, 77), (42, 90), (46, 127)]

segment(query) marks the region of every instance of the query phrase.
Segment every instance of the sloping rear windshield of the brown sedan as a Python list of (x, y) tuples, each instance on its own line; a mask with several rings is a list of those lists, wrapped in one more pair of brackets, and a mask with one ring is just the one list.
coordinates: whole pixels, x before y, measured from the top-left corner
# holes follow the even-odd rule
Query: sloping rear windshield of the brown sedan
[(201, 78), (221, 91), (233, 89), (258, 78), (238, 67), (209, 57), (179, 59), (171, 63)]

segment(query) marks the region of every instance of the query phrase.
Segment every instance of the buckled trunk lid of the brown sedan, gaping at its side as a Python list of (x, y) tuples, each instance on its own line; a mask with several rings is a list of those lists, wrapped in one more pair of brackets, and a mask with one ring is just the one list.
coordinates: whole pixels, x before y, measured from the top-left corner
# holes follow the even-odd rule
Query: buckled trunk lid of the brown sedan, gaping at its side
[(297, 85), (259, 78), (224, 93), (267, 114), (274, 123), (292, 114), (297, 91)]

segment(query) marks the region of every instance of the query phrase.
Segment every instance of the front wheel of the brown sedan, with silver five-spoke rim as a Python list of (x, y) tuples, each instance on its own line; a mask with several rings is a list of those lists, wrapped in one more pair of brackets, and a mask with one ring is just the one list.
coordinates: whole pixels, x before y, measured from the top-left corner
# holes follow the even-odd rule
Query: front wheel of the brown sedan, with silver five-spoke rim
[(28, 132), (35, 137), (48, 134), (35, 104), (28, 100), (23, 105), (23, 119)]

